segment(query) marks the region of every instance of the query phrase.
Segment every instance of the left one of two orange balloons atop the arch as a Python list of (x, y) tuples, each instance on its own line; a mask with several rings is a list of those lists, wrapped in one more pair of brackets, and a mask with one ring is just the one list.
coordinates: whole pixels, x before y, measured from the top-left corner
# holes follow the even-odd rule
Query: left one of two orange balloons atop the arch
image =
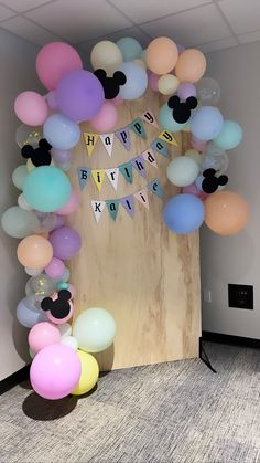
[(166, 36), (159, 36), (152, 40), (147, 48), (145, 63), (154, 74), (167, 74), (174, 69), (177, 56), (175, 42)]

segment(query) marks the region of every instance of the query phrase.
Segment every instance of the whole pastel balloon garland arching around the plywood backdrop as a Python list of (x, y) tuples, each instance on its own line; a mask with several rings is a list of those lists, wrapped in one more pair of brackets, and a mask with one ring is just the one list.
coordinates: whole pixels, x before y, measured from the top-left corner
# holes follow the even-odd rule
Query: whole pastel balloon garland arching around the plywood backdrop
[(23, 123), (15, 138), (26, 164), (12, 173), (22, 192), (1, 223), (6, 233), (21, 240), (17, 255), (30, 275), (17, 317), (30, 329), (31, 382), (40, 396), (52, 400), (86, 393), (95, 386), (99, 371), (91, 352), (107, 349), (116, 333), (115, 320), (104, 308), (86, 309), (73, 328), (67, 323), (76, 290), (68, 283), (65, 261), (79, 252), (82, 240), (65, 224), (79, 206), (66, 171), (80, 122), (109, 131), (124, 99), (141, 97), (148, 87), (160, 92), (165, 97), (158, 115), (162, 128), (192, 134), (192, 149), (167, 166), (169, 180), (182, 192), (164, 206), (165, 225), (185, 234), (205, 221), (216, 233), (232, 234), (248, 219), (246, 201), (221, 191), (228, 181), (226, 150), (238, 146), (242, 129), (225, 120), (216, 107), (220, 87), (214, 78), (203, 77), (206, 59), (199, 50), (185, 50), (164, 36), (142, 50), (137, 40), (123, 38), (97, 43), (90, 62), (94, 72), (83, 69), (71, 45), (43, 46), (36, 72), (48, 93), (22, 92), (14, 102)]

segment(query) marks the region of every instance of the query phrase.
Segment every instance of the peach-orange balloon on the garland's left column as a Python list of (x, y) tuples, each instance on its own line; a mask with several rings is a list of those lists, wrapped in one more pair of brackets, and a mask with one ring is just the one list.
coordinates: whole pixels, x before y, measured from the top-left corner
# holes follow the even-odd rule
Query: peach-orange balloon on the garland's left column
[(53, 259), (53, 246), (45, 238), (31, 234), (19, 243), (17, 254), (23, 266), (42, 269)]

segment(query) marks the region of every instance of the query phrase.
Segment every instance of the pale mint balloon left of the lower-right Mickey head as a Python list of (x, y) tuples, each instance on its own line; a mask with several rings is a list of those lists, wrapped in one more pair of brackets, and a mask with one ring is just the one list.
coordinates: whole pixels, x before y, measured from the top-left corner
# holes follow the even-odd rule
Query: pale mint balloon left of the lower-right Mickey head
[(197, 162), (186, 156), (175, 157), (167, 166), (166, 176), (176, 187), (186, 187), (193, 183), (199, 173)]

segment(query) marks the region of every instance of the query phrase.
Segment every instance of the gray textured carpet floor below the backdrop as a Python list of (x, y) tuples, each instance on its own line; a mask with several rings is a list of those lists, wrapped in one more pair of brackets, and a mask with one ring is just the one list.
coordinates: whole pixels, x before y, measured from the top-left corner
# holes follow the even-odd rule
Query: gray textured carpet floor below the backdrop
[(23, 383), (0, 398), (0, 462), (260, 462), (260, 350), (205, 344), (201, 360), (110, 372), (85, 398)]

